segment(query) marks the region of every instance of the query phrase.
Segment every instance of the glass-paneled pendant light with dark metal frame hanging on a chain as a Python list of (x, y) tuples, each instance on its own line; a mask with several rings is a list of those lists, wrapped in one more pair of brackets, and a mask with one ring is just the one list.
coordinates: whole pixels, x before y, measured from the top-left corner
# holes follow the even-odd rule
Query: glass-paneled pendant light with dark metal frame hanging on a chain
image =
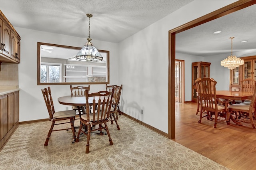
[(75, 58), (79, 61), (102, 61), (102, 55), (91, 43), (92, 39), (90, 38), (90, 18), (92, 17), (92, 14), (86, 14), (86, 16), (89, 18), (89, 36), (87, 38), (88, 42), (76, 54)]

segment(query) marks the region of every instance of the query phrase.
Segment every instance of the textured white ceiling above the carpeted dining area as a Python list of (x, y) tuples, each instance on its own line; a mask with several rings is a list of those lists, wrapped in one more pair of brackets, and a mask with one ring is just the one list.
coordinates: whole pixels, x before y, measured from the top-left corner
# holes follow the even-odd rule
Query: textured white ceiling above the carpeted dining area
[(0, 0), (14, 27), (120, 42), (192, 0)]

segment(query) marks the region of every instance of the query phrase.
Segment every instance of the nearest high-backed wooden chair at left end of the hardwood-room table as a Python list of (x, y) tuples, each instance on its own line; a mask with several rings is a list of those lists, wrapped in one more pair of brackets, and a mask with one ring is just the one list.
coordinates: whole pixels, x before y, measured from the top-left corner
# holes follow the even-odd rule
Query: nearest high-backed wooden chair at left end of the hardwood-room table
[(202, 113), (205, 111), (206, 115), (204, 117), (214, 121), (214, 128), (216, 128), (217, 122), (226, 121), (229, 123), (230, 118), (230, 115), (226, 113), (226, 107), (216, 102), (216, 83), (212, 78), (202, 78), (198, 81), (198, 94), (200, 103), (202, 104), (198, 123), (201, 123)]

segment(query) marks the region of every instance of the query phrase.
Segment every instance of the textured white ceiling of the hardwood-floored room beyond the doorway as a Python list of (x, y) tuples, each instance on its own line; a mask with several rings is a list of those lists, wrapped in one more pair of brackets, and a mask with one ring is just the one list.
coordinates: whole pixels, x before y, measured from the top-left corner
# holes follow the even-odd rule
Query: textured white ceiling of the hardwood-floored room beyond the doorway
[[(176, 51), (198, 56), (231, 53), (230, 37), (235, 37), (233, 55), (256, 52), (256, 5), (176, 34)], [(248, 42), (240, 43), (243, 40)]]

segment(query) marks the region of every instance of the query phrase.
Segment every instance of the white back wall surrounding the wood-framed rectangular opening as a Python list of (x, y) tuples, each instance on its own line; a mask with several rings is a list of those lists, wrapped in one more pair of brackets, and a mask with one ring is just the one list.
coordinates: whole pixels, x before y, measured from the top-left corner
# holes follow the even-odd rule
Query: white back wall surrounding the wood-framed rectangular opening
[[(41, 89), (48, 85), (37, 85), (37, 42), (54, 43), (82, 47), (86, 38), (78, 38), (61, 34), (52, 34), (24, 28), (15, 28), (21, 36), (19, 87), (20, 87), (20, 122), (49, 117)], [(92, 40), (97, 49), (110, 51), (110, 84), (118, 83), (118, 48), (116, 43)], [(70, 95), (70, 85), (50, 85), (55, 110), (65, 110), (58, 97)], [(90, 92), (105, 90), (105, 85), (91, 85)], [(71, 107), (70, 107), (71, 109)]]

